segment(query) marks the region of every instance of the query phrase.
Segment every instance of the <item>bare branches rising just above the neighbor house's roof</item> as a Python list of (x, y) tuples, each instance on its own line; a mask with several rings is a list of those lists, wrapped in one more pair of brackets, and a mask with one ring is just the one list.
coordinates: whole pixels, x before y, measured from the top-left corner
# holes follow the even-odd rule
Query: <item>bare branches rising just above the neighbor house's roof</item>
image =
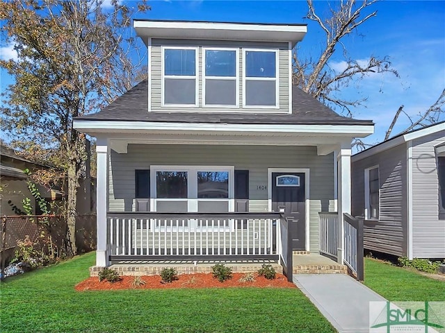
[(405, 128), (401, 133), (398, 133), (397, 135), (405, 134), (412, 130), (415, 130), (416, 128), (426, 127), (433, 123), (439, 122), (441, 120), (441, 117), (445, 114), (444, 105), (445, 105), (445, 89), (442, 90), (442, 93), (440, 94), (437, 101), (435, 101), (435, 103), (432, 104), (430, 108), (428, 108), (428, 110), (416, 115), (416, 119), (413, 119), (413, 117), (411, 117), (409, 114), (403, 111), (404, 106), (401, 105), (401, 107), (398, 108), (396, 114), (394, 115), (394, 118), (391, 121), (391, 125), (389, 125), (387, 133), (385, 135), (385, 140), (391, 137), (392, 130), (402, 113), (405, 114), (405, 116), (410, 120), (410, 125), (407, 126), (407, 128)]

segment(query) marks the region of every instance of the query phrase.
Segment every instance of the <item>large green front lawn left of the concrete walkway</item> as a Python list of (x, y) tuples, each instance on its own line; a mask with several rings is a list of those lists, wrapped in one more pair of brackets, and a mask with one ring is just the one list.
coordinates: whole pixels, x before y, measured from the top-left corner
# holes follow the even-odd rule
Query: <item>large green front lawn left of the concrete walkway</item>
[(74, 291), (94, 253), (1, 283), (1, 332), (335, 332), (298, 289)]

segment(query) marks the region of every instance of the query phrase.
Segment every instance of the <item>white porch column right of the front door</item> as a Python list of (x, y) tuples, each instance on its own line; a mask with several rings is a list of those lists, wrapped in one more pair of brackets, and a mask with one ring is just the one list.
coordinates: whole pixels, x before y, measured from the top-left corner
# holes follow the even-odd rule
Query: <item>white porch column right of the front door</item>
[(337, 153), (337, 173), (338, 173), (338, 212), (339, 212), (339, 233), (337, 235), (337, 262), (343, 264), (344, 259), (344, 220), (343, 213), (350, 214), (350, 142), (341, 144)]

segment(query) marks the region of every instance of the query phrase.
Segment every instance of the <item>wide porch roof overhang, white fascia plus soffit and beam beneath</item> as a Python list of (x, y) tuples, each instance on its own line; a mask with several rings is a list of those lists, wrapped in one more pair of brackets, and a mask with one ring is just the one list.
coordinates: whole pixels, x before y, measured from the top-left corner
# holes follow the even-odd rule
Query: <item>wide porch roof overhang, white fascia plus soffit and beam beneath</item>
[(74, 120), (74, 128), (110, 139), (111, 148), (127, 153), (128, 144), (227, 144), (316, 146), (327, 155), (353, 137), (373, 133), (373, 125), (298, 125), (243, 123), (161, 123)]

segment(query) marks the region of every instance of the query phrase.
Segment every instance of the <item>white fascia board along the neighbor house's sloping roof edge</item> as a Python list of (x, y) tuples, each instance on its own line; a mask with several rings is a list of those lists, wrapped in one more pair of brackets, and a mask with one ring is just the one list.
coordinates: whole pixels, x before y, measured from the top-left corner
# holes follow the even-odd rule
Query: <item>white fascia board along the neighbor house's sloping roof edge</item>
[(399, 144), (404, 144), (405, 142), (410, 142), (426, 135), (437, 133), (441, 130), (445, 130), (445, 123), (438, 123), (435, 126), (416, 130), (412, 133), (401, 135), (400, 137), (394, 137), (394, 139), (389, 139), (386, 142), (382, 142), (382, 144), (366, 149), (366, 151), (363, 151), (362, 153), (353, 155), (353, 157), (351, 157), (351, 161), (357, 162), (359, 160), (363, 160), (366, 157), (381, 153), (382, 151), (387, 151), (388, 149), (398, 146)]

